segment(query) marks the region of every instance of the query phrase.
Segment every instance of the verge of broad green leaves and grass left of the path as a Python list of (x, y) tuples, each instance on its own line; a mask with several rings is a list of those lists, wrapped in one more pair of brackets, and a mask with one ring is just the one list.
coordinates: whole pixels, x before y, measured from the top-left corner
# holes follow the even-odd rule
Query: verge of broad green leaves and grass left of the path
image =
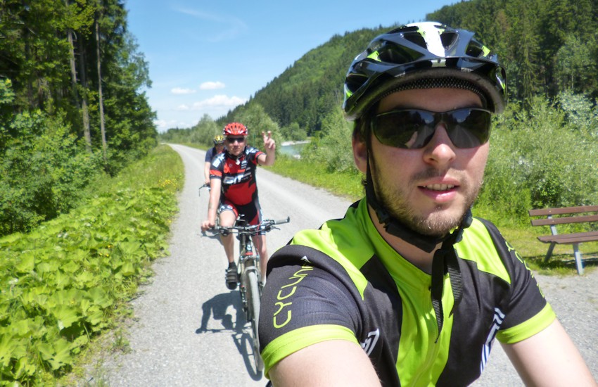
[(183, 182), (167, 146), (98, 180), (75, 210), (0, 239), (0, 380), (52, 385), (128, 312), (167, 254)]

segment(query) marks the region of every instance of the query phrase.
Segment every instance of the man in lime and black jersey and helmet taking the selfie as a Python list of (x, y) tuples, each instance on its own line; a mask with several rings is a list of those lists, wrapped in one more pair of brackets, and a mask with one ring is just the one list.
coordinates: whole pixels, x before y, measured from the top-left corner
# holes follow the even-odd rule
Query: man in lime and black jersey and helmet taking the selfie
[(471, 216), (506, 103), (504, 68), (467, 30), (404, 25), (355, 58), (343, 108), (365, 196), (269, 260), (274, 386), (466, 386), (495, 338), (528, 385), (596, 385), (521, 256)]

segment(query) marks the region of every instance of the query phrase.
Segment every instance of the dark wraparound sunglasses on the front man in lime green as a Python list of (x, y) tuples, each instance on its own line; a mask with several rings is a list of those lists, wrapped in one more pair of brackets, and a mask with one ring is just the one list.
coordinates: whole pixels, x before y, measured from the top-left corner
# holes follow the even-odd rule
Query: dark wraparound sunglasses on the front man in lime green
[(390, 110), (374, 116), (371, 131), (384, 145), (403, 149), (423, 148), (442, 122), (457, 148), (474, 148), (490, 138), (490, 111), (461, 108), (443, 113), (428, 110)]

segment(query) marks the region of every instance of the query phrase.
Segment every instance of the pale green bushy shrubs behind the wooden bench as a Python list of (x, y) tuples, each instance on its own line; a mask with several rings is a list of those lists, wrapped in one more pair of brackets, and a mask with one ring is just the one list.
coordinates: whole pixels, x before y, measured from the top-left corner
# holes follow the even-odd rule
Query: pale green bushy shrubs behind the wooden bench
[(530, 111), (513, 106), (497, 119), (480, 205), (505, 216), (530, 208), (598, 203), (598, 142), (536, 97)]

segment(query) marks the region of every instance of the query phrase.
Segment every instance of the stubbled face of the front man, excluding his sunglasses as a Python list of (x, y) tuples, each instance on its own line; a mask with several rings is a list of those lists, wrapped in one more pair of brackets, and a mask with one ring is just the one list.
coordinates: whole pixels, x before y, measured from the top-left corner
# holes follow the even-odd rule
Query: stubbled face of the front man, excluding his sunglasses
[[(377, 113), (410, 108), (445, 112), (473, 107), (481, 107), (481, 100), (471, 91), (415, 89), (386, 96)], [(371, 134), (369, 160), (378, 200), (410, 228), (442, 236), (459, 225), (478, 196), (488, 148), (488, 143), (457, 148), (443, 123), (438, 124), (428, 144), (419, 149), (386, 146)]]

